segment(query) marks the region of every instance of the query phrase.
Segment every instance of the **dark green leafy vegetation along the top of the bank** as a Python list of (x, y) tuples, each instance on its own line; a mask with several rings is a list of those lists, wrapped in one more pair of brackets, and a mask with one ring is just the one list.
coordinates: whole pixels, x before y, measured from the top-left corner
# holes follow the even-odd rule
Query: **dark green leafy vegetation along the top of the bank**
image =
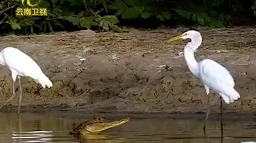
[[(38, 0), (30, 0), (36, 4)], [(0, 2), (0, 33), (92, 29), (122, 31), (120, 26), (172, 27), (252, 24), (256, 1), (239, 0), (42, 0), (47, 16), (16, 16), (16, 8), (29, 8), (27, 0)]]

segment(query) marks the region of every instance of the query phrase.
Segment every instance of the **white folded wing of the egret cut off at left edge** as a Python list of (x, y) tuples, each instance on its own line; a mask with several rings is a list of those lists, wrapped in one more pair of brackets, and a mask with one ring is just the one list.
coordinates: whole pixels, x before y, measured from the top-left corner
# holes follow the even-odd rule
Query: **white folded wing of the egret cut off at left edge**
[(7, 47), (2, 50), (2, 55), (6, 66), (16, 70), (18, 73), (32, 76), (32, 78), (33, 75), (42, 73), (41, 68), (31, 57), (16, 48)]

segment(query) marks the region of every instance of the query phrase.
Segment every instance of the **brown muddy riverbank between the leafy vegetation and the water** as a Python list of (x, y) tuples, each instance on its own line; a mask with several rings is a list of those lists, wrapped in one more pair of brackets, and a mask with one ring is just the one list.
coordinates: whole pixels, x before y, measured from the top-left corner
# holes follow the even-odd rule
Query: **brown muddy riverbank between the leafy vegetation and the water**
[[(188, 70), (186, 41), (164, 40), (185, 29), (127, 33), (94, 31), (0, 38), (0, 47), (13, 46), (31, 56), (53, 81), (42, 89), (22, 78), (22, 112), (48, 109), (84, 112), (205, 112), (205, 89)], [(256, 28), (199, 29), (203, 44), (197, 60), (222, 63), (234, 76), (241, 99), (224, 104), (223, 112), (256, 112)], [(0, 67), (0, 103), (11, 96), (10, 72)], [(16, 83), (18, 90), (18, 82)], [(210, 95), (212, 112), (219, 99)], [(18, 98), (3, 111), (17, 110)]]

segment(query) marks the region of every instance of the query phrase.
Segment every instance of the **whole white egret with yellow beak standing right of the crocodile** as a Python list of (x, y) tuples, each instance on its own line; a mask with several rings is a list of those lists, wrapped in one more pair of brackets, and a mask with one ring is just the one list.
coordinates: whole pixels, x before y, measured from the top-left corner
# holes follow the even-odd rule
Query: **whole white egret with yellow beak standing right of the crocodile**
[[(219, 93), (220, 96), (220, 109), (221, 109), (221, 128), (222, 128), (222, 101), (221, 98), (227, 104), (234, 102), (240, 98), (239, 93), (234, 89), (235, 83), (233, 77), (229, 71), (215, 62), (214, 60), (204, 59), (197, 63), (194, 52), (202, 43), (202, 36), (200, 32), (195, 30), (189, 30), (183, 34), (169, 39), (167, 42), (176, 41), (180, 39), (191, 39), (190, 42), (184, 47), (184, 57), (189, 70), (200, 79), (206, 90), (207, 96), (210, 89)], [(203, 123), (203, 130), (205, 133), (205, 125), (210, 114), (210, 99), (208, 96), (208, 109)], [(222, 130), (221, 130), (222, 131)]]

